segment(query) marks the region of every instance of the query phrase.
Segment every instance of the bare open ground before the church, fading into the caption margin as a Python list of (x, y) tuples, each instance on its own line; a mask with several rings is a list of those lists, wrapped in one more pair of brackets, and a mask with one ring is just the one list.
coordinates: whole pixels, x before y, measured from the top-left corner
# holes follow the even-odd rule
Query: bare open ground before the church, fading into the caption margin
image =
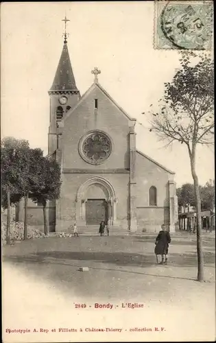
[[(3, 247), (3, 261), (53, 287), (60, 287), (63, 292), (75, 292), (79, 296), (148, 298), (150, 294), (158, 294), (158, 289), (159, 293), (168, 294), (171, 285), (176, 287), (175, 292), (184, 287), (187, 292), (189, 287), (199, 287), (194, 284), (197, 256), (191, 241), (190, 246), (184, 245), (188, 243), (186, 239), (178, 241), (173, 237), (172, 243), (176, 241), (176, 245), (169, 250), (169, 264), (163, 266), (156, 264), (154, 239), (150, 235), (32, 239)], [(212, 242), (213, 239), (213, 245)], [(206, 244), (204, 248), (206, 281), (213, 283), (215, 255)], [(89, 272), (78, 272), (81, 266), (88, 266)], [(186, 286), (187, 281), (191, 283)]]

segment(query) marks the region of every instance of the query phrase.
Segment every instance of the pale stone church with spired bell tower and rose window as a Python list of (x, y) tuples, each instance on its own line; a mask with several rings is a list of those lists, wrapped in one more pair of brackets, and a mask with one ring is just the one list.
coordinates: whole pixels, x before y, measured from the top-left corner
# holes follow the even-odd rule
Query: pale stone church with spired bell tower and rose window
[[(60, 198), (49, 202), (49, 232), (98, 233), (102, 220), (110, 235), (175, 230), (178, 205), (174, 173), (136, 149), (136, 119), (99, 83), (80, 95), (71, 67), (67, 34), (49, 89), (48, 154), (61, 166)], [(29, 200), (28, 224), (43, 230), (40, 204)], [(40, 210), (40, 211), (39, 211)]]

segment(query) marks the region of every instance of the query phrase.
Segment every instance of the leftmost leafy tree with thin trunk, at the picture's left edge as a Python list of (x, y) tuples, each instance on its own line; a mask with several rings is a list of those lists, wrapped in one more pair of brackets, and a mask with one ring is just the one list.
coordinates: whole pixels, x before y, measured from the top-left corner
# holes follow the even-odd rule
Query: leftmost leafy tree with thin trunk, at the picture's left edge
[(21, 193), (19, 177), (28, 150), (29, 143), (25, 140), (5, 137), (1, 141), (1, 195), (5, 195), (7, 199), (7, 244), (10, 244), (10, 203), (14, 194)]

